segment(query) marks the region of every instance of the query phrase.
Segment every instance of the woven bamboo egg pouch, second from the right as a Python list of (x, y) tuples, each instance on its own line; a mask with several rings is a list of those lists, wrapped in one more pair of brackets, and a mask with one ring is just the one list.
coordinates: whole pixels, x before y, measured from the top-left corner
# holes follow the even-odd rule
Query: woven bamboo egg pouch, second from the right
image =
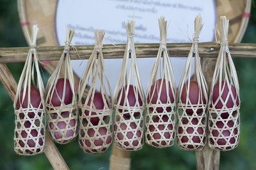
[[(179, 94), (177, 104), (177, 117), (179, 119), (177, 125), (177, 144), (184, 150), (201, 150), (206, 143), (206, 106), (207, 106), (207, 83), (202, 72), (200, 57), (198, 53), (198, 38), (202, 31), (202, 17), (199, 14), (195, 18), (195, 34), (193, 44), (191, 46), (188, 60), (186, 62), (182, 78), (179, 83)], [(195, 53), (195, 81), (191, 81), (191, 60)], [(192, 104), (189, 99), (189, 92), (193, 83), (198, 85), (198, 101)], [(184, 90), (183, 90), (184, 89)], [(186, 91), (186, 101), (182, 102), (182, 92)], [(183, 94), (184, 95), (184, 94)], [(191, 98), (195, 97), (192, 94)], [(205, 101), (204, 101), (205, 99)], [(184, 99), (183, 99), (184, 100)], [(192, 113), (190, 113), (192, 111)]]

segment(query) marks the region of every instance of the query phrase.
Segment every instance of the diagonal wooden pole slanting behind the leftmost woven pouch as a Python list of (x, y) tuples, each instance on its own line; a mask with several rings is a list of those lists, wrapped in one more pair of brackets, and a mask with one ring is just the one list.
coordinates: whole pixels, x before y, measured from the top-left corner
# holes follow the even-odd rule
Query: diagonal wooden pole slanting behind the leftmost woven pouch
[[(6, 91), (13, 100), (17, 90), (17, 82), (4, 63), (0, 63), (0, 81), (3, 83)], [(44, 153), (54, 169), (69, 169), (47, 132), (45, 134)]]

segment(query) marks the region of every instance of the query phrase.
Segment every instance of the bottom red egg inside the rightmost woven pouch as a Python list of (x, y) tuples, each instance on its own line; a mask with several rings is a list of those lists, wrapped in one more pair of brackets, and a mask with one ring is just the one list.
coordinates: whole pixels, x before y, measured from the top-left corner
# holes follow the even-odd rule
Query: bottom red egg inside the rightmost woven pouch
[[(234, 127), (234, 122), (232, 122), (232, 120), (229, 120), (227, 125), (228, 125), (228, 127), (230, 127), (230, 129), (232, 129)], [(216, 122), (216, 127), (219, 130), (221, 130), (223, 128), (223, 126), (224, 126), (223, 122), (221, 122), (221, 121)], [(214, 128), (216, 128), (216, 127), (214, 127)], [(225, 136), (228, 138), (228, 136), (232, 135), (231, 132), (232, 132), (231, 130), (224, 130), (224, 131), (222, 131), (222, 136)], [(234, 129), (233, 134), (237, 134), (237, 128)], [(221, 137), (220, 132), (218, 132), (217, 129), (212, 130), (212, 136), (219, 137), (219, 139), (217, 141), (218, 145), (226, 145), (227, 144), (227, 141), (225, 140), (227, 138)], [(213, 138), (210, 138), (210, 141), (211, 141), (211, 144), (214, 144)], [(229, 139), (230, 144), (234, 144), (235, 142), (236, 142), (236, 139), (234, 137)]]

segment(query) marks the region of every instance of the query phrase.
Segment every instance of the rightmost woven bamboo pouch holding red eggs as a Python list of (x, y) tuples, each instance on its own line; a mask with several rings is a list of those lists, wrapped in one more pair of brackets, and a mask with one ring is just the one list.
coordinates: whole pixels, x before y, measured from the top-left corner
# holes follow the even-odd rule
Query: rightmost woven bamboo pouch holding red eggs
[[(236, 67), (228, 50), (228, 20), (220, 17), (220, 52), (216, 61), (216, 67), (212, 77), (210, 101), (209, 101), (209, 146), (215, 150), (232, 150), (239, 141), (239, 82)], [(218, 94), (215, 93), (218, 90)], [(228, 90), (227, 90), (228, 89)], [(232, 89), (236, 92), (234, 96)], [(213, 95), (217, 96), (214, 102)], [(225, 98), (225, 95), (226, 98)], [(222, 97), (221, 97), (222, 96)], [(232, 102), (230, 104), (230, 99)], [(232, 105), (232, 107), (228, 107)], [(219, 108), (222, 105), (221, 108)], [(223, 115), (221, 115), (223, 114)]]

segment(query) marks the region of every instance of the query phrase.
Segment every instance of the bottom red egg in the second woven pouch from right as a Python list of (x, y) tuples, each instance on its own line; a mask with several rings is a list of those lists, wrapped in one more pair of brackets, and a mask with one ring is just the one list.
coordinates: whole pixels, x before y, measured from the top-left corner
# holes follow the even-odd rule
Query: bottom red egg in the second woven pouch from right
[[(184, 118), (184, 120), (182, 120), (182, 124), (184, 124), (184, 125), (187, 125), (188, 122), (189, 121), (188, 121), (187, 118)], [(191, 123), (193, 125), (199, 125), (197, 118), (193, 118)], [(188, 134), (193, 134), (195, 129), (197, 129), (196, 131), (197, 131), (198, 134), (204, 134), (204, 129), (202, 127), (193, 127), (193, 125), (191, 125), (191, 127), (187, 127), (186, 131), (187, 131)], [(179, 127), (179, 134), (182, 134), (182, 133), (183, 133), (183, 128)], [(191, 142), (193, 142), (193, 143), (198, 143), (198, 144), (201, 143), (201, 140), (200, 140), (199, 136), (197, 136), (196, 134), (195, 134), (195, 136), (193, 136), (192, 141), (189, 141), (189, 137), (186, 136), (186, 134), (184, 134), (184, 136), (181, 138), (181, 142), (182, 143), (188, 143), (188, 142), (191, 143)], [(203, 138), (203, 141), (204, 140), (205, 140), (205, 138)], [(195, 145), (195, 146), (198, 146), (198, 145)], [(188, 145), (188, 148), (193, 149), (194, 146), (193, 145)]]

